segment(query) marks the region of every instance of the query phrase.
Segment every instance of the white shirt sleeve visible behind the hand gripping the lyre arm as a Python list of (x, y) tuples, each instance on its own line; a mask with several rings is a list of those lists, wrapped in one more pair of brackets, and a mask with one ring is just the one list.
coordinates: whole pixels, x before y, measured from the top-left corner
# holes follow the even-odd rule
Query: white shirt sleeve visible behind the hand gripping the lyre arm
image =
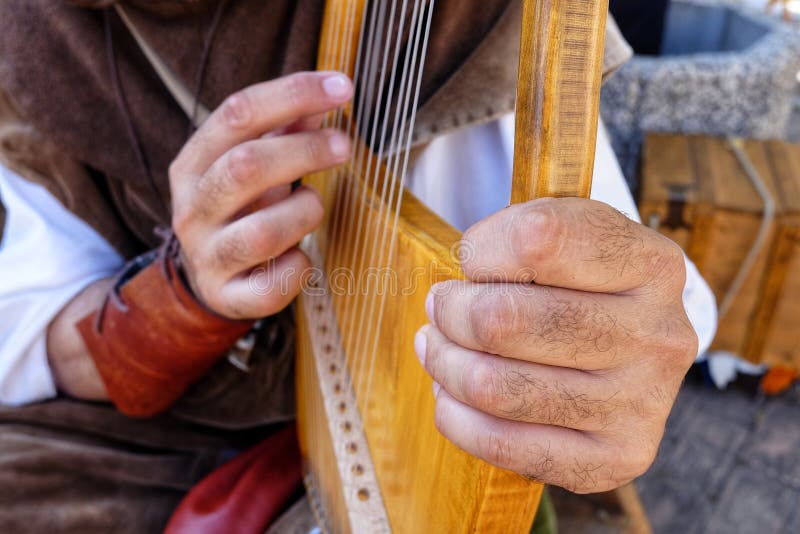
[[(434, 212), (464, 231), (507, 206), (511, 198), (513, 156), (512, 114), (434, 140), (415, 162), (408, 176), (408, 187)], [(592, 198), (641, 222), (602, 125), (597, 138)], [(700, 340), (699, 354), (703, 354), (716, 334), (716, 301), (688, 258), (686, 270), (683, 303)]]

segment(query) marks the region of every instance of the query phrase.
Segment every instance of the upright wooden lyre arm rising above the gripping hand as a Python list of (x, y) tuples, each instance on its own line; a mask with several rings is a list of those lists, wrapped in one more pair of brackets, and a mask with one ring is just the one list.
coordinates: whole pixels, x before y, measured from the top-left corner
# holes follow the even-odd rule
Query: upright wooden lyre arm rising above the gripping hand
[(608, 0), (522, 0), (512, 203), (588, 197)]

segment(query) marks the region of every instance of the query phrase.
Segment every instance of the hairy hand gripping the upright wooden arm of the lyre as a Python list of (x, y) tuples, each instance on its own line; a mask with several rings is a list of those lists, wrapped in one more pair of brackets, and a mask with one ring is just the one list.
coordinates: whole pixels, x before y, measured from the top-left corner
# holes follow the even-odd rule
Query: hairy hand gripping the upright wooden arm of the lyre
[(580, 493), (643, 474), (697, 353), (678, 246), (605, 204), (542, 199), (470, 229), (462, 264), (415, 343), (440, 432)]

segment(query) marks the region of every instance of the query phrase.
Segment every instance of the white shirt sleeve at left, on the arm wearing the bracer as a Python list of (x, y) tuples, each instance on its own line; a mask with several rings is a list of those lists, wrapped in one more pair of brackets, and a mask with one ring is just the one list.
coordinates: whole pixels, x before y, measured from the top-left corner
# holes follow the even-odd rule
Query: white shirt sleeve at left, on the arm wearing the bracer
[(112, 275), (119, 254), (45, 188), (0, 165), (0, 404), (56, 395), (47, 327), (86, 286)]

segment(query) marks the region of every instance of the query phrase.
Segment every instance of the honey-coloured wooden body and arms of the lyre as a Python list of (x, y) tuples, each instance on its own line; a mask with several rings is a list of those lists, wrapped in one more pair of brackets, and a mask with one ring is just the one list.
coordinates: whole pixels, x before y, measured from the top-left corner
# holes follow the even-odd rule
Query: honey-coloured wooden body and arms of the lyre
[[(522, 33), (537, 30), (537, 38), (528, 40), (530, 55), (521, 58), (521, 80), (525, 81), (520, 95), (528, 106), (523, 117), (539, 110), (543, 118), (535, 127), (523, 128), (522, 135), (518, 132), (517, 154), (522, 156), (515, 165), (527, 162), (530, 172), (515, 174), (515, 200), (588, 196), (607, 2), (525, 3)], [(356, 5), (363, 17), (364, 4), (327, 2), (320, 69), (353, 72), (355, 52), (341, 43), (352, 43), (352, 32), (358, 28), (345, 23), (342, 14), (347, 6)], [(351, 61), (343, 61), (342, 56)], [(529, 92), (535, 94), (525, 98)], [(414, 354), (414, 334), (427, 323), (424, 301), (430, 288), (463, 276), (456, 257), (460, 235), (408, 192), (384, 188), (391, 172), (382, 172), (380, 181), (367, 180), (364, 169), (383, 169), (383, 163), (365, 150), (361, 140), (355, 142), (360, 156), (353, 163), (307, 177), (305, 182), (321, 193), (328, 214), (316, 239), (329, 252), (326, 270), (334, 288), (331, 298), (391, 528), (400, 533), (527, 533), (542, 486), (466, 454), (439, 434), (434, 426), (431, 379)], [(544, 158), (539, 170), (531, 165), (537, 158)], [(389, 215), (393, 206), (387, 202), (393, 195), (404, 199), (396, 227)], [(395, 240), (391, 256), (383, 245), (387, 234)], [(364, 243), (380, 246), (367, 248), (363, 254)], [(383, 276), (389, 277), (385, 300), (374, 290), (376, 281), (385, 280)], [(309, 337), (315, 335), (315, 326), (300, 321), (301, 449), (328, 508), (329, 528), (350, 532), (353, 528), (344, 508), (352, 497), (346, 492), (352, 488), (344, 487), (339, 475), (342, 462), (347, 461), (347, 444), (333, 440), (320, 417), (326, 406), (339, 399), (320, 393), (330, 390), (327, 381), (335, 378), (314, 371), (319, 355)]]

